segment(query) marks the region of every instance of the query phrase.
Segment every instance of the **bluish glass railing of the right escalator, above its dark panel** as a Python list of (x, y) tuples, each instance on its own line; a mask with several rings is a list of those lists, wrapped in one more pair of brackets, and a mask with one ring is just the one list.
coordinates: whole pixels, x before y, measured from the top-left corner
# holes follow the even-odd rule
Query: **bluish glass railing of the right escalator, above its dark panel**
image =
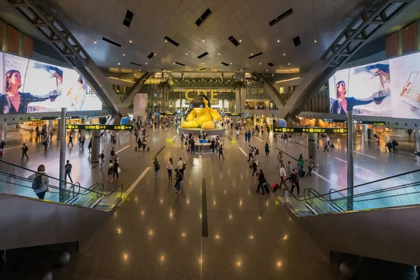
[[(349, 195), (351, 191), (353, 195)], [(306, 188), (303, 197), (295, 197), (286, 188), (283, 190), (283, 199), (297, 216), (420, 205), (420, 170), (353, 188), (331, 189), (324, 195), (313, 188)]]

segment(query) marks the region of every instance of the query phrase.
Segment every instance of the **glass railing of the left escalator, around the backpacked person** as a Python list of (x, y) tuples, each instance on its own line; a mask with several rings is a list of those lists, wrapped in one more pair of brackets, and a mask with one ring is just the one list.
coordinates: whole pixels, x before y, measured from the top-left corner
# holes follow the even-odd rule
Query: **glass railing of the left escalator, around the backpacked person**
[[(32, 188), (33, 179), (28, 178), (33, 174), (39, 174), (38, 172), (4, 160), (0, 160), (0, 169), (2, 169), (0, 171), (0, 193), (38, 199), (38, 195)], [(84, 188), (80, 186), (80, 183), (60, 181), (45, 174), (43, 176), (48, 177), (45, 201), (108, 211), (123, 198), (124, 187), (122, 184), (106, 192), (103, 183), (94, 183), (92, 186)]]

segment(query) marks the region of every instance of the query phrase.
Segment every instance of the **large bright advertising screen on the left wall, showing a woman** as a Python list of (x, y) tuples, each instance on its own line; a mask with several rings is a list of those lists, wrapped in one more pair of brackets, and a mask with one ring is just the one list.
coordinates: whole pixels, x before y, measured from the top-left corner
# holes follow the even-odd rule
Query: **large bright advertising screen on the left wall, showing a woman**
[(102, 110), (75, 70), (0, 52), (0, 115)]

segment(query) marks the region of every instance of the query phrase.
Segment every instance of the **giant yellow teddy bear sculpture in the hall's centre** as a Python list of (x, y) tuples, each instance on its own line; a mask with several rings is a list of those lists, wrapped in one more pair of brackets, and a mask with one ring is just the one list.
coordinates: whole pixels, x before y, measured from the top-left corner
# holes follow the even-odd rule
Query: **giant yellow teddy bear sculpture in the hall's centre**
[(222, 119), (219, 113), (210, 108), (209, 97), (204, 94), (200, 94), (190, 103), (190, 108), (193, 109), (188, 116), (187, 120), (182, 123), (181, 127), (183, 128), (196, 128), (200, 127), (203, 130), (213, 130), (216, 127), (216, 122)]

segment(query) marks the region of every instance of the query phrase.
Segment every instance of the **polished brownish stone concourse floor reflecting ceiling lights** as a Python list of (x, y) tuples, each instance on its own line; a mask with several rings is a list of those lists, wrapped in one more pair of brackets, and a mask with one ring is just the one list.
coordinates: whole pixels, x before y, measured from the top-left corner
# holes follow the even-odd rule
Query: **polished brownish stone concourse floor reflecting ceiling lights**
[[(243, 136), (235, 141), (229, 132), (230, 138), (224, 137), (225, 160), (219, 160), (216, 154), (187, 153), (173, 129), (148, 128), (146, 134), (150, 134), (150, 152), (135, 152), (134, 135), (120, 134), (115, 145), (122, 169), (119, 183), (128, 196), (110, 221), (80, 243), (80, 253), (72, 255), (69, 265), (54, 272), (55, 279), (342, 279), (329, 256), (290, 218), (281, 197), (255, 193), (257, 181), (251, 179)], [(29, 169), (42, 163), (48, 174), (58, 175), (55, 138), (52, 147), (43, 151), (27, 132), (10, 129), (7, 137), (3, 160)], [(30, 144), (29, 161), (20, 161), (22, 141)], [(67, 149), (73, 180), (82, 186), (101, 181), (111, 190), (117, 183), (106, 182), (106, 169), (90, 163), (88, 141), (85, 149), (78, 148), (76, 141)], [(263, 153), (265, 141), (271, 146), (268, 157)], [(302, 179), (303, 188), (325, 193), (346, 187), (346, 143), (332, 141), (335, 149), (323, 153), (320, 147), (320, 167), (316, 176)], [(259, 168), (269, 183), (279, 180), (277, 149), (293, 166), (300, 153), (307, 158), (305, 137), (274, 144), (265, 135), (252, 137), (251, 144), (261, 151)], [(108, 159), (111, 146), (102, 139)], [(377, 151), (371, 141), (357, 143), (356, 151), (356, 184), (419, 169), (414, 158)], [(152, 168), (155, 157), (162, 167), (158, 179)], [(169, 158), (177, 162), (180, 157), (187, 169), (183, 192), (176, 195), (165, 166)]]

